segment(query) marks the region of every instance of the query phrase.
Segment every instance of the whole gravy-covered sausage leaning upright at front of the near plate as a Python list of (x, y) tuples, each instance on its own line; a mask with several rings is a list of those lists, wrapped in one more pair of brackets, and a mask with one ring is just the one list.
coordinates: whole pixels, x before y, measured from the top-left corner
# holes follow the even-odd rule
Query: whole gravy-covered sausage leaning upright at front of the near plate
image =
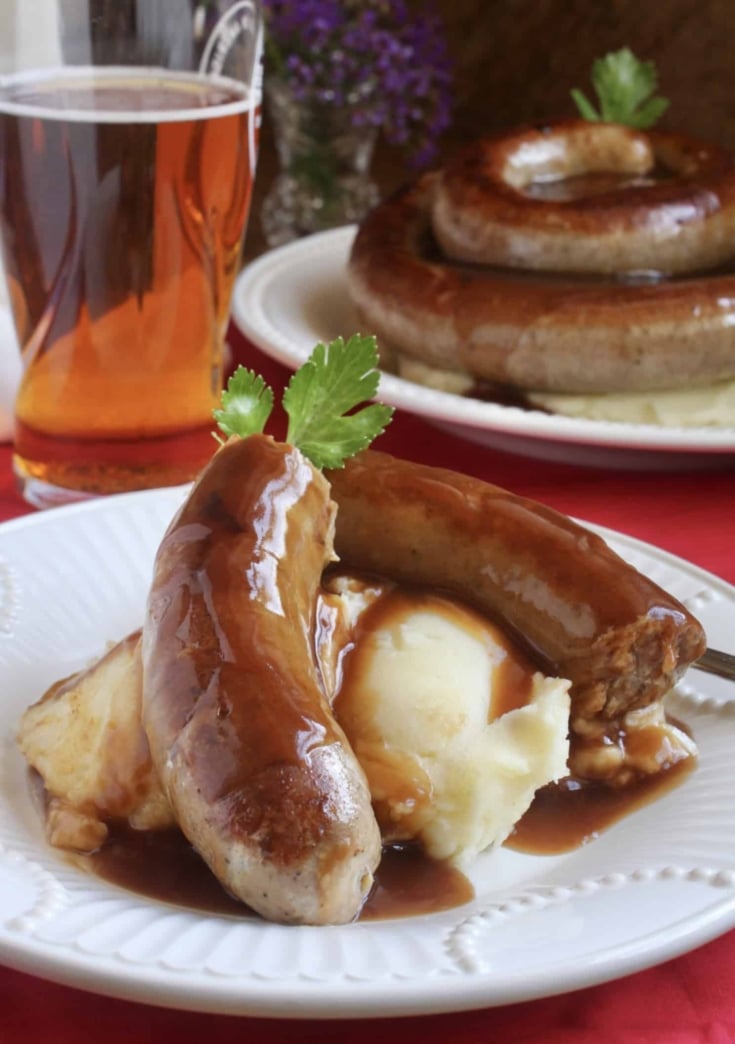
[(143, 725), (176, 821), (230, 892), (281, 922), (352, 920), (381, 854), (312, 650), (333, 519), (298, 450), (231, 440), (164, 537), (143, 627)]

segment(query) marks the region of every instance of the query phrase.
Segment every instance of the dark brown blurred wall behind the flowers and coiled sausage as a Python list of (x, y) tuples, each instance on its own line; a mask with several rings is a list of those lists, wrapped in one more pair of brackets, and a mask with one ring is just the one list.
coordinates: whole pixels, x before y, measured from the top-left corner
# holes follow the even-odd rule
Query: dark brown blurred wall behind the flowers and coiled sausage
[[(426, 4), (412, 0), (420, 16)], [(594, 58), (629, 46), (659, 70), (670, 99), (662, 127), (735, 150), (735, 0), (436, 0), (455, 66), (451, 129), (440, 162), (463, 142), (518, 123), (572, 116), (572, 87), (592, 97)], [(245, 256), (264, 248), (259, 208), (276, 174), (264, 118)], [(379, 144), (374, 175), (384, 193), (411, 176)]]

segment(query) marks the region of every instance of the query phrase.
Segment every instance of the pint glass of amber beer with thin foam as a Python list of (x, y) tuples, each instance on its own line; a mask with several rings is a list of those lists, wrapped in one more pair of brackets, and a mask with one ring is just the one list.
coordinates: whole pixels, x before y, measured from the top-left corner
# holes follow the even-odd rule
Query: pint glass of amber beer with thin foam
[(14, 468), (30, 503), (186, 482), (216, 448), (261, 51), (260, 0), (0, 0)]

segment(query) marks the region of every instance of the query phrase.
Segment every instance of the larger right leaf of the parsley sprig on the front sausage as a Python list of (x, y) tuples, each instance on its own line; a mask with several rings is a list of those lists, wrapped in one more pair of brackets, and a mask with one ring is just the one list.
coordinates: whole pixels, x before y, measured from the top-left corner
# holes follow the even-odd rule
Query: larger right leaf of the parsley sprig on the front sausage
[(316, 468), (341, 468), (384, 430), (393, 407), (374, 403), (349, 412), (378, 390), (375, 337), (354, 334), (317, 345), (283, 394), (286, 442)]

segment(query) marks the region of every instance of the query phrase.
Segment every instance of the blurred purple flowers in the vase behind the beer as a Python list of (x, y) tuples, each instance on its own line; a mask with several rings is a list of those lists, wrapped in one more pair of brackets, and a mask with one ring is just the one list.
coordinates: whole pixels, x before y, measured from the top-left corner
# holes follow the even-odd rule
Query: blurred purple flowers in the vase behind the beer
[(417, 167), (431, 162), (451, 113), (437, 16), (412, 19), (404, 0), (263, 0), (263, 7), (266, 75), (297, 99), (352, 102), (353, 126), (379, 128)]

